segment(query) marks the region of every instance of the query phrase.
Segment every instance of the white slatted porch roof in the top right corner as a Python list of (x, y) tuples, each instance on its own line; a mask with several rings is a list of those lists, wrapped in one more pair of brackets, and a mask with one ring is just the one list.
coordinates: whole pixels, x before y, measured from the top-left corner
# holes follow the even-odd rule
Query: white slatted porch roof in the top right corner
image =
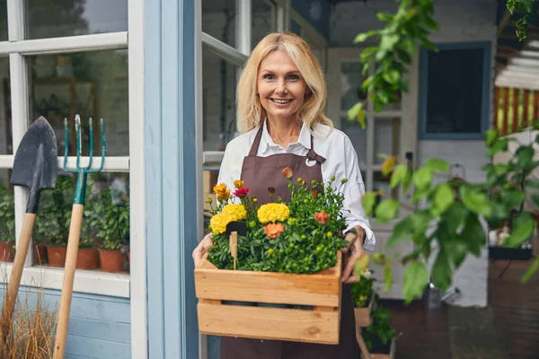
[(519, 41), (512, 22), (519, 13), (511, 16), (505, 4), (499, 1), (496, 86), (539, 90), (539, 22), (529, 23), (526, 40)]

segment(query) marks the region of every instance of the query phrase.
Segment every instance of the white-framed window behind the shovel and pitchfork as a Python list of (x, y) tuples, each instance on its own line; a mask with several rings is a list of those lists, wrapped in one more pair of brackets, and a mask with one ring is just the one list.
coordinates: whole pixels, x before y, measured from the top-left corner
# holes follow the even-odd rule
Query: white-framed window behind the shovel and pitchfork
[[(128, 297), (128, 0), (26, 0), (13, 4), (7, 7), (0, 1), (0, 56), (4, 56), (0, 57), (0, 257), (6, 252), (13, 254), (22, 230), (26, 189), (13, 188), (10, 176), (13, 148), (27, 128), (40, 116), (49, 120), (57, 135), (60, 164), (67, 118), (71, 131), (67, 166), (75, 168), (74, 118), (81, 116), (82, 151), (87, 155), (88, 119), (92, 117), (94, 165), (99, 166), (99, 118), (103, 118), (105, 167), (88, 176), (75, 274), (80, 279), (75, 280), (74, 291)], [(8, 23), (12, 31), (6, 41)], [(83, 157), (84, 162), (87, 157)], [(76, 175), (58, 166), (57, 188), (41, 193), (34, 245), (27, 256), (22, 285), (41, 278), (41, 285), (61, 288), (75, 180)], [(11, 245), (3, 248), (3, 242)], [(115, 252), (116, 267), (106, 267), (108, 262), (100, 258), (98, 249), (104, 248), (119, 250)], [(4, 256), (3, 260), (13, 258)], [(9, 275), (11, 267), (8, 264), (5, 268)]]

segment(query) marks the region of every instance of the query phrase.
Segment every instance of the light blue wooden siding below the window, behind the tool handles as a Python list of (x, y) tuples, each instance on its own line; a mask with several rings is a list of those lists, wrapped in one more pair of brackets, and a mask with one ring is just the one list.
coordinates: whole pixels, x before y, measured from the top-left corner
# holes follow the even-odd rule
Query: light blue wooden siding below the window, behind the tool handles
[[(46, 290), (44, 294), (45, 306), (59, 307), (60, 291)], [(28, 298), (29, 308), (35, 308), (35, 289), (22, 287), (19, 295), (21, 300)], [(73, 293), (66, 359), (131, 358), (130, 323), (128, 299)]]

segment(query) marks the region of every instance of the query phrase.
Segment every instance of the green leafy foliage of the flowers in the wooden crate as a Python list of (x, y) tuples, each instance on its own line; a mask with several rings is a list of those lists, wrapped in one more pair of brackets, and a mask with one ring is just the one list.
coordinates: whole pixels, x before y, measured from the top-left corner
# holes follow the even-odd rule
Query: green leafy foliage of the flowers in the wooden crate
[[(238, 236), (236, 269), (307, 274), (335, 266), (335, 254), (348, 243), (342, 238), (346, 229), (346, 221), (340, 213), (344, 197), (339, 185), (342, 185), (331, 180), (319, 191), (322, 184), (295, 186), (295, 182), (290, 180), (288, 186), (290, 216), (276, 222), (283, 225), (284, 232), (275, 239), (264, 232), (265, 224), (257, 215), (259, 206), (252, 198), (239, 198), (247, 209), (247, 217), (241, 220), (247, 223), (247, 235)], [(277, 198), (276, 202), (280, 200)], [(228, 201), (221, 202), (210, 212), (218, 215), (228, 204)], [(328, 215), (327, 222), (315, 220), (314, 215), (320, 212)], [(215, 233), (213, 242), (208, 254), (210, 262), (218, 268), (232, 269), (234, 259), (229, 251), (229, 237)]]

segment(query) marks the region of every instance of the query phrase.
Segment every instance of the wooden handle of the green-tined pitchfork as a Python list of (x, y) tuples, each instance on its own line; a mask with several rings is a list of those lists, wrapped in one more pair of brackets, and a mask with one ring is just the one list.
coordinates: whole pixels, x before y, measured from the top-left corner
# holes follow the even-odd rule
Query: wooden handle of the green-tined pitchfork
[(83, 214), (83, 205), (73, 205), (71, 224), (69, 226), (69, 239), (67, 240), (64, 283), (62, 285), (62, 297), (60, 299), (60, 308), (58, 310), (58, 324), (53, 355), (54, 359), (64, 359), (64, 356), (66, 355), (67, 327), (69, 325), (69, 312), (71, 311), (71, 297), (73, 295), (73, 282), (75, 281), (76, 254), (81, 238)]

